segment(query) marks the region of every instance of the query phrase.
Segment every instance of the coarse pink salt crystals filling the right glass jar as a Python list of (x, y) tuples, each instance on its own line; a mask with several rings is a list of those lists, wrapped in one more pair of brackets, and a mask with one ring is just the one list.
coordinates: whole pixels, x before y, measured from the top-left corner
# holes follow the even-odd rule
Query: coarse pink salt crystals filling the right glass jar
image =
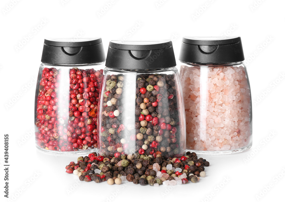
[(232, 150), (251, 143), (250, 89), (243, 66), (181, 66), (180, 80), (186, 149)]

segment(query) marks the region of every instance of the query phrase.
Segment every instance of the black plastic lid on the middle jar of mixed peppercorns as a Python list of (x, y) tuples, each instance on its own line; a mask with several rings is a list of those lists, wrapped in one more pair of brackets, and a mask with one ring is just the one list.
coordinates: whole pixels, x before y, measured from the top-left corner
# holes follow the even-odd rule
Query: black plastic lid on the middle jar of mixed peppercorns
[(171, 40), (110, 41), (106, 67), (141, 70), (176, 66)]

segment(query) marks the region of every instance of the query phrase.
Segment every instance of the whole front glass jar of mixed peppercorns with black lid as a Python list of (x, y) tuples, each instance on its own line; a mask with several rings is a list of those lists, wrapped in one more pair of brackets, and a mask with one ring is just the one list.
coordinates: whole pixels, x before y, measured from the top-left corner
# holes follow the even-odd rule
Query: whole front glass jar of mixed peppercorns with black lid
[(99, 154), (180, 157), (182, 91), (172, 42), (111, 41), (99, 103)]

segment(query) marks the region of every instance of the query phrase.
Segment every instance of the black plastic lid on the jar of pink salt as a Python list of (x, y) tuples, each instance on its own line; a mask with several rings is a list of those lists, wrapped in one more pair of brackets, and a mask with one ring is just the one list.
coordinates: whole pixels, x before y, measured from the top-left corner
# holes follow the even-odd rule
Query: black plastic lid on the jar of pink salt
[(182, 39), (179, 60), (191, 63), (229, 63), (245, 60), (241, 37), (189, 37)]

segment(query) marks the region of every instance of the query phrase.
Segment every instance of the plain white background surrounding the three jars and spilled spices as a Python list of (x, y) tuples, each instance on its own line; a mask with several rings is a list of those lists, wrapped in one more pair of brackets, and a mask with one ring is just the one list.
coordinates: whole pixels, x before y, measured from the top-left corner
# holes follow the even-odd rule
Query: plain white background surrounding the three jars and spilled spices
[[(277, 0), (1, 0), (1, 201), (7, 201), (3, 197), (4, 133), (10, 138), (10, 201), (206, 202), (282, 197), (284, 4)], [(250, 150), (201, 156), (211, 166), (199, 183), (156, 188), (128, 182), (121, 186), (80, 182), (77, 176), (65, 173), (65, 166), (78, 155), (55, 156), (36, 149), (34, 93), (44, 38), (101, 36), (106, 53), (109, 40), (172, 39), (178, 62), (182, 36), (187, 35), (241, 36), (253, 99)], [(19, 93), (22, 96), (9, 105)]]

